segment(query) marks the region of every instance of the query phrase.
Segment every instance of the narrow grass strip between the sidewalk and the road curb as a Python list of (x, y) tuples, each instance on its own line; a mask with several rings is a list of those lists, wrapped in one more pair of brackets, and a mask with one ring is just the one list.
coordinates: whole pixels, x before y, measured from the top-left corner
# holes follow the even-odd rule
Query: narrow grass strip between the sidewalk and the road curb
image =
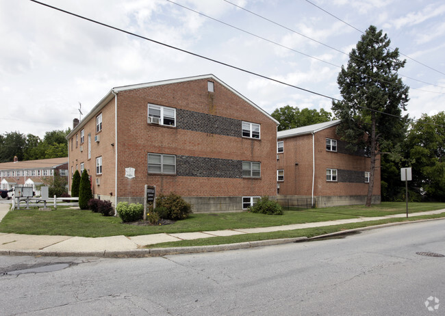
[(340, 231), (346, 231), (354, 228), (363, 228), (368, 226), (375, 226), (381, 224), (389, 224), (396, 222), (412, 222), (416, 220), (427, 220), (435, 218), (445, 218), (445, 214), (434, 214), (434, 215), (421, 215), (414, 218), (389, 218), (387, 220), (375, 220), (370, 222), (358, 222), (352, 224), (340, 224), (324, 227), (315, 228), (301, 228), (293, 231), (277, 231), (270, 233), (253, 233), (244, 235), (233, 235), (227, 237), (209, 237), (201, 239), (192, 240), (181, 240), (181, 241), (169, 241), (165, 243), (156, 243), (153, 245), (146, 246), (145, 248), (170, 248), (170, 247), (190, 247), (190, 246), (211, 246), (211, 245), (223, 245), (227, 243), (242, 243), (248, 241), (261, 241), (269, 239), (285, 239), (294, 237), (316, 237), (321, 235), (326, 235), (330, 233), (337, 233)]

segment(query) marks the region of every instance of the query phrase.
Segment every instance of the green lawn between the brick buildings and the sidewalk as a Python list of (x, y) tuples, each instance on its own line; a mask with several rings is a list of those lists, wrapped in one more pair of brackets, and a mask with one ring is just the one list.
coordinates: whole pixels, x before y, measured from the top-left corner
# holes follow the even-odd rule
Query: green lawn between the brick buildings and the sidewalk
[[(445, 203), (409, 203), (409, 212), (445, 209)], [(322, 222), (345, 218), (374, 217), (405, 213), (403, 202), (383, 202), (370, 208), (364, 206), (329, 207), (305, 211), (285, 211), (284, 215), (253, 213), (192, 214), (187, 220), (165, 226), (136, 226), (122, 224), (120, 218), (104, 217), (91, 211), (57, 209), (53, 211), (14, 210), (0, 222), (0, 233), (28, 235), (68, 235), (105, 237), (114, 235), (149, 235), (155, 233), (187, 233), (219, 231), (236, 228), (255, 228)], [(213, 238), (212, 238), (213, 239)]]

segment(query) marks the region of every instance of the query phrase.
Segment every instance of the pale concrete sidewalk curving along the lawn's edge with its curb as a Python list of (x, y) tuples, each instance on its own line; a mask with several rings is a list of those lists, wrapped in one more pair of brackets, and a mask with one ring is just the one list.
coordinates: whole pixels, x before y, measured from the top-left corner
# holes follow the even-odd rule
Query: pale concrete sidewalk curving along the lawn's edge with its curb
[[(9, 204), (0, 204), (0, 221), (8, 213)], [(445, 209), (410, 213), (409, 217), (445, 213)], [(445, 216), (445, 214), (444, 214)], [(201, 246), (201, 247), (177, 247), (177, 248), (143, 248), (147, 245), (166, 241), (180, 241), (183, 239), (199, 239), (216, 236), (242, 235), (249, 233), (268, 233), (275, 231), (291, 231), (301, 228), (331, 226), (338, 224), (350, 224), (356, 222), (370, 222), (387, 218), (405, 218), (406, 214), (379, 216), (374, 218), (351, 218), (348, 220), (333, 220), (328, 222), (314, 222), (306, 224), (292, 224), (283, 226), (271, 226), (264, 228), (245, 228), (225, 231), (204, 231), (199, 233), (172, 233), (153, 234), (125, 237), (72, 237), (72, 236), (42, 236), (19, 235), (0, 233), (0, 254), (10, 255), (44, 255), (44, 256), (162, 256), (165, 254), (193, 253), (207, 251), (222, 251), (254, 246), (268, 246), (272, 244), (288, 243), (307, 239), (307, 237), (273, 239), (266, 241), (251, 241), (245, 243), (233, 243), (227, 245)], [(400, 224), (400, 223), (396, 223)]]

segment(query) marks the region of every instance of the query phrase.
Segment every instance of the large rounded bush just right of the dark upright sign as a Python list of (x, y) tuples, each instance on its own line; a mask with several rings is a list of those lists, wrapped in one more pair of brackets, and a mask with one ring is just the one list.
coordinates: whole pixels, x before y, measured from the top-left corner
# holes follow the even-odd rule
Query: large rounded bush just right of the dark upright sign
[(164, 194), (157, 196), (156, 206), (156, 209), (162, 208), (158, 214), (165, 220), (184, 220), (188, 214), (192, 213), (192, 206), (173, 192), (168, 196), (164, 196)]

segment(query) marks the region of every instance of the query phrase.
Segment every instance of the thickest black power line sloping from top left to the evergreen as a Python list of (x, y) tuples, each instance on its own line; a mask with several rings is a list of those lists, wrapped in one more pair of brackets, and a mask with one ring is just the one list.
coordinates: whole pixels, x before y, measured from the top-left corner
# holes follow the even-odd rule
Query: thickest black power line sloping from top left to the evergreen
[[(157, 40), (153, 40), (153, 39), (151, 39), (151, 38), (147, 38), (147, 37), (145, 37), (145, 36), (141, 36), (141, 35), (132, 33), (132, 32), (130, 32), (130, 31), (126, 31), (125, 29), (120, 29), (120, 28), (118, 28), (118, 27), (114, 27), (114, 26), (112, 26), (112, 25), (107, 25), (107, 24), (105, 24), (105, 23), (102, 23), (102, 22), (99, 22), (99, 21), (92, 20), (91, 18), (87, 18), (87, 17), (85, 17), (85, 16), (81, 16), (81, 15), (79, 15), (79, 14), (75, 14), (75, 13), (73, 13), (73, 12), (69, 12), (69, 11), (66, 11), (66, 10), (63, 10), (63, 9), (54, 7), (53, 5), (49, 5), (49, 4), (47, 4), (47, 3), (42, 3), (42, 2), (40, 2), (40, 1), (36, 1), (36, 0), (29, 0), (29, 1), (32, 1), (32, 2), (34, 2), (34, 3), (38, 3), (38, 4), (40, 4), (40, 5), (44, 5), (44, 6), (48, 7), (48, 8), (53, 9), (53, 10), (58, 10), (58, 11), (60, 11), (60, 12), (64, 12), (64, 13), (69, 14), (69, 15), (71, 15), (71, 16), (76, 16), (77, 18), (81, 18), (81, 19), (83, 19), (83, 20), (90, 21), (90, 22), (95, 23), (95, 24), (98, 24), (98, 25), (102, 25), (102, 26), (104, 26), (104, 27), (108, 27), (108, 28), (110, 28), (110, 29), (114, 29), (114, 30), (116, 30), (116, 31), (120, 31), (120, 32), (125, 33), (125, 34), (129, 34), (129, 35), (131, 35), (131, 36), (135, 36), (135, 37), (137, 37), (137, 38), (142, 38), (143, 40), (148, 40), (148, 41), (150, 41), (150, 42), (154, 42), (154, 43), (156, 43), (156, 44), (160, 44), (160, 45), (162, 45), (162, 46), (164, 46), (164, 47), (168, 47), (168, 48), (170, 48), (170, 49), (175, 49), (175, 50), (177, 50), (177, 51), (181, 51), (181, 52), (183, 52), (183, 53), (187, 53), (187, 54), (189, 54), (189, 55), (193, 55), (193, 56), (195, 56), (195, 57), (199, 57), (199, 58), (202, 58), (202, 59), (204, 59), (204, 60), (209, 60), (210, 62), (214, 62), (214, 63), (216, 63), (216, 64), (220, 64), (220, 65), (223, 65), (223, 66), (227, 66), (227, 67), (229, 67), (229, 68), (233, 68), (233, 69), (236, 69), (236, 70), (240, 70), (240, 71), (242, 71), (243, 73), (249, 73), (250, 75), (254, 75), (254, 76), (257, 76), (257, 77), (260, 77), (260, 78), (263, 78), (263, 79), (267, 79), (267, 80), (270, 80), (270, 81), (274, 81), (274, 82), (277, 82), (277, 83), (281, 83), (281, 84), (283, 84), (283, 85), (287, 85), (288, 87), (291, 87), (291, 88), (296, 88), (296, 89), (298, 89), (298, 90), (302, 90), (302, 91), (305, 91), (305, 92), (309, 92), (309, 93), (311, 93), (311, 94), (315, 94), (315, 95), (318, 95), (318, 96), (322, 96), (322, 97), (324, 97), (324, 98), (329, 98), (329, 99), (331, 99), (332, 101), (342, 102), (341, 100), (339, 100), (338, 98), (334, 98), (333, 96), (327, 96), (327, 95), (325, 95), (325, 94), (321, 94), (321, 93), (318, 93), (318, 92), (315, 92), (315, 91), (312, 91), (312, 90), (308, 90), (308, 89), (305, 89), (305, 88), (298, 87), (297, 85), (292, 85), (292, 84), (290, 84), (290, 83), (285, 83), (284, 81), (280, 81), (280, 80), (278, 80), (278, 79), (273, 79), (273, 78), (271, 78), (271, 77), (266, 77), (265, 75), (260, 75), (260, 74), (258, 74), (258, 73), (253, 73), (253, 71), (246, 70), (246, 69), (243, 69), (243, 68), (240, 68), (240, 67), (237, 67), (237, 66), (233, 66), (233, 65), (231, 65), (231, 64), (227, 64), (227, 63), (225, 63), (225, 62), (220, 62), (220, 61), (218, 61), (218, 60), (214, 60), (214, 59), (212, 59), (212, 58), (210, 58), (210, 57), (206, 57), (206, 56), (203, 56), (203, 55), (199, 55), (199, 54), (197, 54), (197, 53), (192, 53), (191, 51), (186, 51), (185, 49), (180, 49), (179, 47), (174, 47), (174, 46), (172, 46), (172, 45), (165, 44), (165, 43), (163, 43), (163, 42), (159, 42), (159, 41), (157, 41)], [(378, 113), (381, 113), (381, 114), (385, 114), (385, 115), (388, 115), (388, 116), (394, 116), (394, 117), (396, 117), (396, 118), (402, 118), (401, 116), (396, 116), (396, 115), (394, 115), (394, 114), (389, 114), (389, 113), (385, 113), (385, 112), (378, 111), (378, 110), (375, 110), (375, 109), (370, 109), (370, 108), (368, 108), (368, 107), (362, 107), (362, 106), (360, 106), (360, 105), (356, 105), (356, 106), (357, 106), (357, 107), (361, 107), (361, 108), (363, 108), (363, 109), (368, 109), (369, 111), (375, 111), (375, 112), (378, 112)], [(414, 120), (414, 121), (416, 121), (416, 120)], [(440, 125), (439, 125), (439, 126), (440, 126)]]

